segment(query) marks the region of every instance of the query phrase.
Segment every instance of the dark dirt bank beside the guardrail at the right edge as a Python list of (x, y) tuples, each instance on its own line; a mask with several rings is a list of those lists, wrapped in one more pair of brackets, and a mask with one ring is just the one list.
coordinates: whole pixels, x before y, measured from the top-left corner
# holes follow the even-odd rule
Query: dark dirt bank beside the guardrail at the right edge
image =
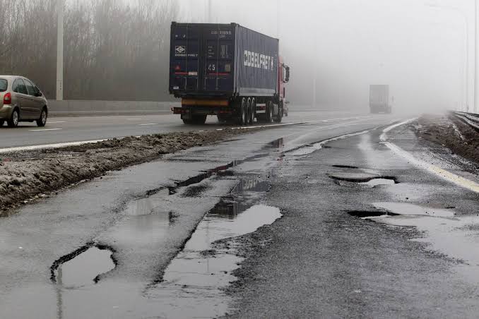
[(453, 154), (479, 165), (479, 133), (451, 114), (426, 114), (411, 127), (419, 138), (449, 148)]

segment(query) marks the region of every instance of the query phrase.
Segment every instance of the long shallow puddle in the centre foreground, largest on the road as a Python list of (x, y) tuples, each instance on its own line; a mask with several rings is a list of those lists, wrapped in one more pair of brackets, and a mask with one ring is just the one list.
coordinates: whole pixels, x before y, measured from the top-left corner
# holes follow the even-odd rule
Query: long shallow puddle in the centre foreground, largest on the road
[(215, 248), (213, 243), (249, 234), (280, 217), (278, 208), (266, 205), (254, 205), (233, 218), (223, 207), (213, 208), (167, 267), (158, 289), (151, 292), (155, 299), (165, 302), (162, 310), (177, 318), (211, 318), (227, 313), (230, 299), (222, 289), (235, 280), (231, 272), (242, 258), (235, 248)]

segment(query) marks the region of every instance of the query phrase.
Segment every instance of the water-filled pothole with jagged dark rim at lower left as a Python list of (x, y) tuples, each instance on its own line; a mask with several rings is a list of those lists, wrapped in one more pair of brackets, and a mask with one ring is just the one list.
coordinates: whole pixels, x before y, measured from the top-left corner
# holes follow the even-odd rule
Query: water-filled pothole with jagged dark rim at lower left
[(52, 266), (54, 282), (67, 288), (84, 287), (98, 282), (100, 275), (115, 267), (112, 251), (104, 246), (85, 246), (60, 258)]

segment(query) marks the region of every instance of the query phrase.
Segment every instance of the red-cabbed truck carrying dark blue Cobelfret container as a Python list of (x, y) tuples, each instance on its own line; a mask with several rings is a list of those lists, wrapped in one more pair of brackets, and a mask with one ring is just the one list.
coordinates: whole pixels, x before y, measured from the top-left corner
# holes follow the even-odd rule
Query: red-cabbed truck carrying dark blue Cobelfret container
[(184, 124), (204, 124), (208, 115), (242, 126), (280, 123), (289, 78), (276, 38), (237, 23), (171, 24), (169, 91), (181, 99), (172, 112)]

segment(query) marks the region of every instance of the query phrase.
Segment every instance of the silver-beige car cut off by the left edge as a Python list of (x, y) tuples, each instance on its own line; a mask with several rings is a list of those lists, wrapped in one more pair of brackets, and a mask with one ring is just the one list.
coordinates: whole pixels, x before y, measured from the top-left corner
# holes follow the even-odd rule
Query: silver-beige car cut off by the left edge
[(20, 121), (45, 126), (47, 116), (47, 99), (37, 85), (22, 76), (0, 76), (0, 126), (16, 127)]

